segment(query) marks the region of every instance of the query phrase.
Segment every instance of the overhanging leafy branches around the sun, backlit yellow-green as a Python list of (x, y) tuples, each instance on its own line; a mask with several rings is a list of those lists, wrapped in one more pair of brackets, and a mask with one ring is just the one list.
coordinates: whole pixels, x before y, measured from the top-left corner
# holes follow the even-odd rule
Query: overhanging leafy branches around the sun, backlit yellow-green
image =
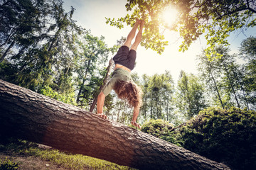
[[(171, 27), (161, 21), (161, 12), (168, 6), (178, 9), (178, 18)], [(125, 7), (132, 14), (127, 12), (126, 16), (117, 20), (106, 18), (106, 22), (122, 28), (123, 23), (132, 26), (135, 18), (144, 19), (146, 23), (142, 45), (160, 54), (164, 51), (164, 46), (168, 45), (164, 41), (164, 30), (174, 30), (181, 35), (183, 42), (180, 50), (183, 51), (188, 49), (191, 42), (206, 33), (206, 55), (209, 56), (215, 45), (228, 45), (230, 32), (256, 26), (254, 0), (129, 0)]]

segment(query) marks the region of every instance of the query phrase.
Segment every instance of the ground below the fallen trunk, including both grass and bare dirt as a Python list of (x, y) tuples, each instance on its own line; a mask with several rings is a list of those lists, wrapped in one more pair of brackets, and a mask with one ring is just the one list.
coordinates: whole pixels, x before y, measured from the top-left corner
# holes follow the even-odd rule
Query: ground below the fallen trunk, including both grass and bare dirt
[(136, 170), (81, 154), (60, 152), (46, 145), (27, 141), (16, 140), (5, 145), (0, 143), (0, 169), (15, 169), (14, 167), (18, 167), (18, 170)]

